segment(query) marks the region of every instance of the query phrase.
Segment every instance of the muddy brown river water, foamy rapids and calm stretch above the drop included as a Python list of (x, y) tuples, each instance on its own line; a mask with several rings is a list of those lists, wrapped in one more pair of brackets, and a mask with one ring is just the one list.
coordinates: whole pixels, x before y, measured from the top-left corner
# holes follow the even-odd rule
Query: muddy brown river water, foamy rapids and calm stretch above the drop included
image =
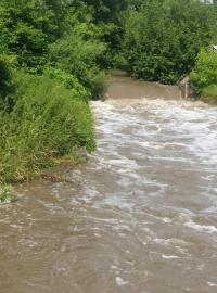
[(122, 76), (107, 94), (73, 183), (0, 206), (0, 292), (217, 292), (217, 109)]

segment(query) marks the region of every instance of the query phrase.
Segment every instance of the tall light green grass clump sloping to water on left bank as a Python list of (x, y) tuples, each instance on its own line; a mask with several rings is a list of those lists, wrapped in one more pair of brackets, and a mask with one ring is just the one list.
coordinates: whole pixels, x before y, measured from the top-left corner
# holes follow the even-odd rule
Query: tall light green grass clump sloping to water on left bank
[(0, 183), (16, 182), (94, 149), (92, 117), (86, 101), (48, 76), (16, 73), (15, 105), (0, 113)]

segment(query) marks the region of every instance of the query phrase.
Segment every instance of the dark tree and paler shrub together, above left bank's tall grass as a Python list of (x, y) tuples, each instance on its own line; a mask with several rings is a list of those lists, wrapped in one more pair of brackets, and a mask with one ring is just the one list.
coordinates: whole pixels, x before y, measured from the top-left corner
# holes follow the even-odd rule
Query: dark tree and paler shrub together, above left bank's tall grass
[(94, 90), (106, 44), (100, 40), (85, 1), (0, 0), (0, 42), (16, 58), (16, 67), (42, 74), (52, 66)]

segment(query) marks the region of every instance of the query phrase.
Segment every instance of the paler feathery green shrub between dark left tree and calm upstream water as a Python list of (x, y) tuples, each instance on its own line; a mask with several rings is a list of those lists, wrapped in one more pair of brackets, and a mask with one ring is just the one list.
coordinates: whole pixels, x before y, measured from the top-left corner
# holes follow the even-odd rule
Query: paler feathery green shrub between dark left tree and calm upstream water
[(58, 69), (75, 76), (89, 90), (90, 95), (95, 98), (103, 92), (104, 75), (100, 74), (98, 59), (104, 50), (103, 43), (95, 40), (87, 41), (75, 29), (74, 34), (63, 37), (51, 46), (51, 63)]

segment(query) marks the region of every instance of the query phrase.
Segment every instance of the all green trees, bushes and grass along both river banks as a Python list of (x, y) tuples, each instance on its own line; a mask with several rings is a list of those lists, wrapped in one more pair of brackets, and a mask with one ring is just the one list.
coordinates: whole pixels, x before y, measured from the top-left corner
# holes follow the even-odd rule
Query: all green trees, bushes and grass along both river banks
[(107, 68), (165, 84), (192, 72), (215, 93), (216, 55), (202, 48), (216, 26), (217, 7), (193, 0), (0, 0), (0, 183), (94, 150), (88, 101)]

